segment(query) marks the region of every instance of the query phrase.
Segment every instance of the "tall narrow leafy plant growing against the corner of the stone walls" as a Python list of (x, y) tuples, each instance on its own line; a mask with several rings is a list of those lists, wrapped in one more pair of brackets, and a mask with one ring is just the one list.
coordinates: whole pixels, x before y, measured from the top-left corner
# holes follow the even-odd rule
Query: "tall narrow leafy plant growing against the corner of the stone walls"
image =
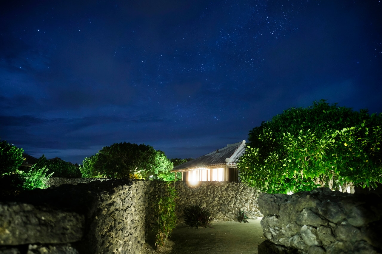
[(155, 236), (155, 246), (158, 248), (165, 245), (172, 230), (176, 227), (176, 198), (178, 198), (178, 193), (175, 186), (171, 186), (171, 182), (169, 182), (167, 183), (167, 194), (161, 196), (155, 203), (155, 212), (158, 218), (153, 231), (157, 232)]

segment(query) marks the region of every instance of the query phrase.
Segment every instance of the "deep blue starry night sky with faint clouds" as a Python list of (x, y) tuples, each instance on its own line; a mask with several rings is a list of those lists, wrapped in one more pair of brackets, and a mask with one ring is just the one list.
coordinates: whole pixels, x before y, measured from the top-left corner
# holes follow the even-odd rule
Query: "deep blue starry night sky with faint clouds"
[(81, 164), (116, 142), (196, 158), (326, 99), (382, 112), (378, 0), (0, 4), (0, 138)]

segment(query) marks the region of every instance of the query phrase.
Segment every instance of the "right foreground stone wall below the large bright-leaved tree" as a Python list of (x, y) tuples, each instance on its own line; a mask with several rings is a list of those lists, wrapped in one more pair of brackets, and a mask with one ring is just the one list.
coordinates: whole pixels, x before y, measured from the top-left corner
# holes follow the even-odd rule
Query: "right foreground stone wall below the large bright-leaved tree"
[(382, 253), (377, 195), (318, 188), (293, 195), (261, 193), (258, 202), (264, 236), (278, 244), (262, 244), (264, 253)]

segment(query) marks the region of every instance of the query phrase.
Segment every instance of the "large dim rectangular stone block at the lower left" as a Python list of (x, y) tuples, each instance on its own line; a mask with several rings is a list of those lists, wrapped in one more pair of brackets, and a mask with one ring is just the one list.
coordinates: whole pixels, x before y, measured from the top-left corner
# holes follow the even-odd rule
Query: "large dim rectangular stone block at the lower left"
[(84, 216), (23, 203), (0, 203), (0, 245), (70, 243), (83, 236)]

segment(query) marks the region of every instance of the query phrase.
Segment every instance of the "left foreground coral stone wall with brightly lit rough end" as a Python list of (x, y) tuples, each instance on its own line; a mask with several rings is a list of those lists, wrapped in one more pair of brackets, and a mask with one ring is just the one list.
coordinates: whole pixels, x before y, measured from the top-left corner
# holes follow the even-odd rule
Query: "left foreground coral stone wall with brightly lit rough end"
[(139, 254), (146, 240), (148, 185), (93, 181), (2, 201), (0, 253)]

